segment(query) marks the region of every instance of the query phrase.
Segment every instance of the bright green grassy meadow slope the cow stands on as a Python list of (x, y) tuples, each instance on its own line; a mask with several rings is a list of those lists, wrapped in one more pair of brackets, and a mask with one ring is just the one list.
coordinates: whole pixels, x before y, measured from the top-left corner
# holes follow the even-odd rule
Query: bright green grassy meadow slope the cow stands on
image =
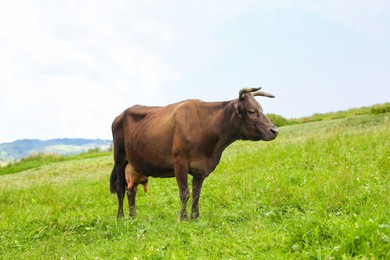
[(117, 220), (112, 165), (102, 154), (0, 176), (0, 258), (390, 259), (388, 112), (232, 144), (197, 221), (178, 221), (173, 178), (151, 178), (137, 217)]

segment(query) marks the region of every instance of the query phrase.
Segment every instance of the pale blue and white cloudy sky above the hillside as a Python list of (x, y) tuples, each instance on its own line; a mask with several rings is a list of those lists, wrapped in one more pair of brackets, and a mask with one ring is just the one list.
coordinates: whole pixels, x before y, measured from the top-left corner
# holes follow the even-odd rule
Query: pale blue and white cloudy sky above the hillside
[(387, 0), (1, 1), (0, 143), (243, 87), (287, 118), (390, 102), (389, 28)]

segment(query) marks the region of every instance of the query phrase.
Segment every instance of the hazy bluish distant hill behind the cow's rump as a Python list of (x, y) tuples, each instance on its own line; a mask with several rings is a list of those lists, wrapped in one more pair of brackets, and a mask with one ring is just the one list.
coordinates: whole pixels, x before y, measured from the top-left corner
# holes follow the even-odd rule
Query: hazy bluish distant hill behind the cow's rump
[(0, 164), (18, 161), (23, 157), (38, 153), (77, 154), (90, 149), (107, 150), (111, 140), (59, 138), (51, 140), (22, 139), (0, 144)]

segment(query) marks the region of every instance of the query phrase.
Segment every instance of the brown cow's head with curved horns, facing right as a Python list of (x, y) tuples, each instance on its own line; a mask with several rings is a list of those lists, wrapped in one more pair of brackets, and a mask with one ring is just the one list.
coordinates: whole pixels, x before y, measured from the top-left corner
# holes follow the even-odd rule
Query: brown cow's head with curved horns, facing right
[(278, 128), (263, 114), (263, 109), (255, 96), (274, 97), (260, 88), (240, 90), (236, 103), (236, 111), (240, 118), (239, 135), (244, 140), (273, 140), (278, 135)]

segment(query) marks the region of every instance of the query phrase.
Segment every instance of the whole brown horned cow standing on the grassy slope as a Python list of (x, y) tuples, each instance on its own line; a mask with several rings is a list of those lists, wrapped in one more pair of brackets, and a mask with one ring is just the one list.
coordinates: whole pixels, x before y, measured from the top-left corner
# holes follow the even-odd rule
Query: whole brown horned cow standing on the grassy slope
[(129, 216), (136, 215), (137, 186), (148, 178), (175, 177), (181, 200), (180, 220), (187, 219), (192, 175), (191, 218), (199, 218), (203, 180), (218, 165), (224, 149), (236, 140), (270, 141), (277, 127), (263, 114), (255, 96), (273, 98), (261, 88), (244, 88), (224, 102), (186, 100), (164, 107), (135, 105), (112, 123), (114, 167), (110, 189), (117, 193), (118, 218), (123, 217), (127, 190)]

